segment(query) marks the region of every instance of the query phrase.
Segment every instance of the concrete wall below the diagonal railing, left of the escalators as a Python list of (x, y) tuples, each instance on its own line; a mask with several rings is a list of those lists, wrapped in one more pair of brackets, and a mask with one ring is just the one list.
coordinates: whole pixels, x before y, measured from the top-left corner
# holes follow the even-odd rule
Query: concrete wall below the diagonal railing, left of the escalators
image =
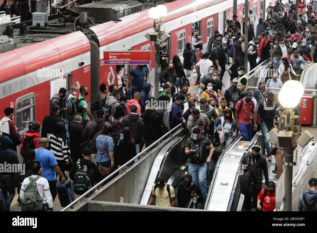
[(139, 159), (137, 163), (131, 165), (124, 173), (115, 177), (93, 196), (87, 198), (78, 207), (74, 208), (74, 211), (81, 209), (87, 201), (92, 200), (139, 204), (156, 155), (171, 139), (176, 136), (182, 136), (181, 131), (182, 129), (179, 129), (172, 137), (165, 139), (151, 152)]

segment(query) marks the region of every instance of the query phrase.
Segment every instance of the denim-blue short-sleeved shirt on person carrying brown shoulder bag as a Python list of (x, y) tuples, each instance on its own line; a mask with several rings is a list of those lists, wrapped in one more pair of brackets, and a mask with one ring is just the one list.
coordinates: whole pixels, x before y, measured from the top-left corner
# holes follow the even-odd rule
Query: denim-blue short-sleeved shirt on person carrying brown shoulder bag
[(107, 162), (110, 160), (109, 152), (113, 151), (113, 139), (108, 135), (101, 134), (96, 138), (97, 157), (96, 162)]

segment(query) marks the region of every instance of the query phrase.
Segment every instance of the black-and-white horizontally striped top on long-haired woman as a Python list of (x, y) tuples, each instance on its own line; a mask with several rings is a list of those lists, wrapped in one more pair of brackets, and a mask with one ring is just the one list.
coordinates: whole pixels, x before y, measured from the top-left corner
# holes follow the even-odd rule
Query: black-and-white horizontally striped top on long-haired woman
[(63, 139), (50, 134), (48, 137), (50, 151), (54, 153), (56, 160), (68, 161), (68, 147)]

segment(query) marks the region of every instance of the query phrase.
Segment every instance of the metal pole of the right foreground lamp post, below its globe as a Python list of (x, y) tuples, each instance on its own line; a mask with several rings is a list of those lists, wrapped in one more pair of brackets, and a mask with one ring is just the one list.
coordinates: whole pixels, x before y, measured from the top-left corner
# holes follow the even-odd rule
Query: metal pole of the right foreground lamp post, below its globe
[[(286, 113), (286, 131), (291, 129), (291, 109), (287, 109)], [(294, 123), (294, 121), (292, 121)], [(285, 148), (285, 196), (283, 211), (291, 211), (292, 209), (292, 178), (293, 178), (293, 145)]]

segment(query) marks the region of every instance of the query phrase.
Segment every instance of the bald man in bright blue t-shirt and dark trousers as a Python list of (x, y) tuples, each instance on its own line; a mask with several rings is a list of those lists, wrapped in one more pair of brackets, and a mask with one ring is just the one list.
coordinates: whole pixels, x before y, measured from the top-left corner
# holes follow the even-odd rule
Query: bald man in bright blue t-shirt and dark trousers
[(61, 172), (61, 169), (57, 165), (57, 161), (53, 152), (47, 150), (49, 147), (49, 142), (46, 138), (41, 138), (39, 140), (39, 148), (35, 149), (36, 159), (35, 161), (39, 161), (42, 165), (42, 177), (46, 178), (49, 182), (49, 191), (51, 192), (53, 202), (57, 195), (57, 175), (61, 177), (61, 180), (64, 181), (65, 177)]

